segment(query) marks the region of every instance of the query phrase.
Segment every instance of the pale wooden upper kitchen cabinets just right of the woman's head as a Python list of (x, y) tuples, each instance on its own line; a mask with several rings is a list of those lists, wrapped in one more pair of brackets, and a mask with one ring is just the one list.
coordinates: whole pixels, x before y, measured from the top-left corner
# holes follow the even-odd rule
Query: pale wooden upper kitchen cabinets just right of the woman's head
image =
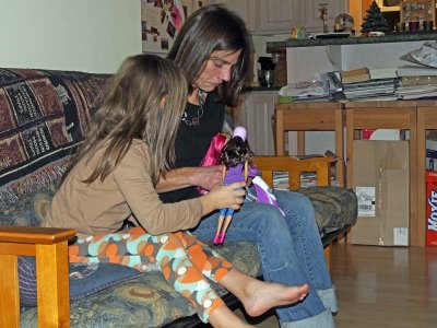
[(335, 17), (346, 12), (346, 0), (212, 0), (238, 13), (253, 35), (291, 33), (304, 26), (308, 32), (321, 32), (319, 3), (328, 3), (328, 27), (333, 30)]

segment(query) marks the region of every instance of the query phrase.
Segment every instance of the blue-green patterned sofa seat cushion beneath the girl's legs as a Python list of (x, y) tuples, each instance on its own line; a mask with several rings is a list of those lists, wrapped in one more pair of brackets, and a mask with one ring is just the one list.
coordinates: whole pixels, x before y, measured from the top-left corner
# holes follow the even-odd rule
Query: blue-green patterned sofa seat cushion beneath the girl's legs
[[(260, 271), (255, 244), (238, 242), (211, 247), (250, 276)], [(221, 295), (227, 293), (222, 288), (218, 291)], [(161, 272), (152, 271), (72, 303), (70, 313), (71, 327), (161, 327), (177, 318), (194, 315), (196, 311), (164, 280)], [(22, 313), (21, 327), (36, 326), (36, 308)]]

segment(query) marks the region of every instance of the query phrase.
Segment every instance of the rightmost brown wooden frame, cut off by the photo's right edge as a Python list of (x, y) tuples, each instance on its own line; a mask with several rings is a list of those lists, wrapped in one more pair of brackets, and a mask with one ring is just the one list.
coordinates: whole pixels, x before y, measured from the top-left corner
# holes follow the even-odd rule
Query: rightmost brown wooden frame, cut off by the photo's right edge
[(418, 244), (425, 246), (426, 231), (426, 130), (437, 129), (437, 102), (422, 101), (417, 107), (417, 231), (420, 233)]

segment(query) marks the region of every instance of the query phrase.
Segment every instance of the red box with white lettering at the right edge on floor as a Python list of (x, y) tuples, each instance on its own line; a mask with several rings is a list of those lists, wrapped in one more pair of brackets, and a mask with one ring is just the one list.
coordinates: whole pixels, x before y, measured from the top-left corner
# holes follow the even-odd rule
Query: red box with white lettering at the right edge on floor
[(437, 172), (426, 172), (426, 246), (437, 246)]

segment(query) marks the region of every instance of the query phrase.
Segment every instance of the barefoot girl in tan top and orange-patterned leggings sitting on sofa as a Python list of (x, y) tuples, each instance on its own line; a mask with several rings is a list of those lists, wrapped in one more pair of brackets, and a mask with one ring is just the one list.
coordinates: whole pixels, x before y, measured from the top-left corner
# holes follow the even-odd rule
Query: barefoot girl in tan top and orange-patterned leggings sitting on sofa
[[(102, 91), (90, 130), (55, 195), (47, 226), (78, 230), (72, 262), (119, 262), (140, 271), (156, 263), (164, 278), (214, 327), (247, 326), (211, 288), (215, 281), (258, 316), (298, 302), (308, 285), (253, 279), (185, 230), (220, 208), (238, 209), (245, 183), (164, 204), (155, 190), (173, 167), (187, 83), (170, 61), (151, 55), (125, 60)], [(130, 218), (138, 224), (120, 231)]]

